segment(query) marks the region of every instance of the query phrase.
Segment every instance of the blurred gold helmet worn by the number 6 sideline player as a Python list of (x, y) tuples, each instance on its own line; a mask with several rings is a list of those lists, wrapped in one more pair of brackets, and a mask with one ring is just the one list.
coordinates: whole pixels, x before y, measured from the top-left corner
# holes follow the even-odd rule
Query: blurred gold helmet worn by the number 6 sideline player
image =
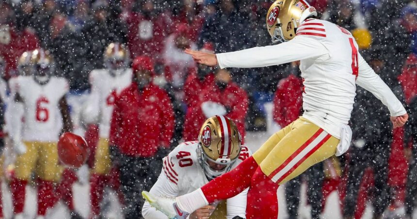
[(34, 66), (35, 80), (41, 84), (47, 83), (55, 71), (55, 64), (49, 51), (42, 48), (33, 50), (30, 62)]

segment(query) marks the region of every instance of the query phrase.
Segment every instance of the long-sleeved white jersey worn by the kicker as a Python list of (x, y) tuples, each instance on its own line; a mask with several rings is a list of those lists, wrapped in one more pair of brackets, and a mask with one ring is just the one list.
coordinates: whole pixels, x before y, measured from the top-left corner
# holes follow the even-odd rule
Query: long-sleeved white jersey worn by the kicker
[(217, 60), (221, 68), (301, 61), (305, 87), (303, 116), (337, 139), (351, 118), (355, 83), (380, 99), (391, 116), (406, 113), (401, 102), (358, 53), (352, 34), (328, 21), (307, 19), (288, 42), (220, 53)]

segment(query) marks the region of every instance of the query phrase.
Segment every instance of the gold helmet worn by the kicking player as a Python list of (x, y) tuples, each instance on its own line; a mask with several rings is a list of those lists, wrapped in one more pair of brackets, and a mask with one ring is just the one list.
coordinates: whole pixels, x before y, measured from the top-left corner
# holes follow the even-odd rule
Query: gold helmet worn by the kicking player
[(275, 0), (266, 14), (266, 27), (272, 42), (285, 42), (295, 37), (298, 26), (317, 11), (305, 0)]

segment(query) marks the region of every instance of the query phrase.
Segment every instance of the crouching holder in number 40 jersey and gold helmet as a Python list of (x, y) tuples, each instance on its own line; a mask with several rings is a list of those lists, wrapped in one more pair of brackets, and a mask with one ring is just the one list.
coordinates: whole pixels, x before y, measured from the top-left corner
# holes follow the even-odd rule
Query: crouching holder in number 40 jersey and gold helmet
[[(176, 197), (200, 188), (210, 180), (238, 166), (251, 156), (241, 145), (241, 135), (235, 123), (225, 116), (213, 116), (201, 126), (198, 141), (179, 144), (163, 158), (158, 181), (151, 188), (153, 195)], [(247, 189), (224, 202), (214, 202), (197, 209), (190, 219), (245, 218)], [(145, 219), (166, 216), (145, 202), (142, 208)]]

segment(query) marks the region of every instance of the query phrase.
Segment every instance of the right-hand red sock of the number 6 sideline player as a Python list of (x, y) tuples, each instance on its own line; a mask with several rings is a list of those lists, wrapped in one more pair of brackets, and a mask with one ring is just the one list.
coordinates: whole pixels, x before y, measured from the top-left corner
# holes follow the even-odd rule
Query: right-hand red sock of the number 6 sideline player
[(53, 202), (53, 183), (48, 180), (38, 180), (38, 215), (45, 215)]

